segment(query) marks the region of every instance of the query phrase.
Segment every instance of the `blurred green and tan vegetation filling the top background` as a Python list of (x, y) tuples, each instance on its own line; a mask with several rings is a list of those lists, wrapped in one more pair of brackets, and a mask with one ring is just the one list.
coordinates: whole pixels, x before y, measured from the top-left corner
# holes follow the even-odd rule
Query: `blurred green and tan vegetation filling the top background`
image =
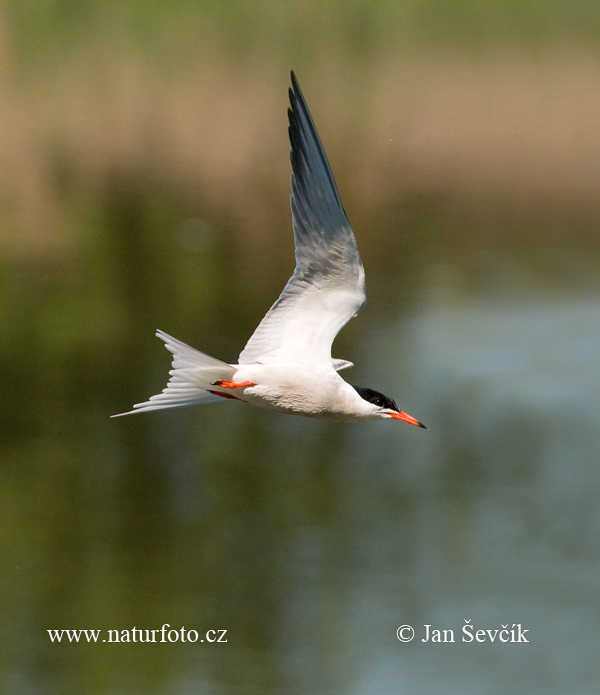
[(0, 13), (6, 252), (68, 250), (115, 175), (250, 219), (239, 241), (260, 246), (287, 224), (289, 68), (351, 217), (449, 191), (596, 212), (600, 50), (583, 24), (501, 2), (175, 5)]

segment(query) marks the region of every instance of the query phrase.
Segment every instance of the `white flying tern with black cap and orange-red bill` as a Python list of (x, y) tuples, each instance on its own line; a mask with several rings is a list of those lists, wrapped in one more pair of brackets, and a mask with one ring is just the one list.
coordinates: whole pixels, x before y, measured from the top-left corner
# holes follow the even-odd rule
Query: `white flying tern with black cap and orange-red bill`
[(296, 268), (240, 353), (237, 364), (209, 357), (163, 331), (173, 353), (164, 390), (132, 413), (185, 408), (223, 399), (291, 415), (358, 422), (394, 419), (427, 429), (388, 396), (352, 386), (331, 357), (340, 329), (365, 303), (365, 271), (317, 129), (292, 72), (289, 90)]

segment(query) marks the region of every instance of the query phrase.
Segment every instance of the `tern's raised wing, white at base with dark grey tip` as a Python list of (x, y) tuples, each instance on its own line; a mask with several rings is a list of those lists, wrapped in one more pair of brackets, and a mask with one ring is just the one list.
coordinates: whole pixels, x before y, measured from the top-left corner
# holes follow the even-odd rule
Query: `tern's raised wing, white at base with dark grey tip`
[(293, 72), (289, 94), (296, 269), (239, 362), (331, 369), (333, 339), (365, 302), (365, 273), (325, 150)]

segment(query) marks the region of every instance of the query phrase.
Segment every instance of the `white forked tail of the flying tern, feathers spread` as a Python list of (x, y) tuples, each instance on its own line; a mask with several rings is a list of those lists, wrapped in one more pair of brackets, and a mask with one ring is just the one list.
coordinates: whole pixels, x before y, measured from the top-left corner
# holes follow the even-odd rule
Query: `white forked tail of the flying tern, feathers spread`
[(133, 410), (111, 417), (165, 408), (187, 408), (223, 400), (208, 389), (215, 381), (231, 379), (235, 371), (231, 365), (205, 355), (163, 331), (156, 331), (156, 335), (165, 341), (165, 347), (173, 353), (169, 383), (161, 393), (143, 403), (136, 403)]

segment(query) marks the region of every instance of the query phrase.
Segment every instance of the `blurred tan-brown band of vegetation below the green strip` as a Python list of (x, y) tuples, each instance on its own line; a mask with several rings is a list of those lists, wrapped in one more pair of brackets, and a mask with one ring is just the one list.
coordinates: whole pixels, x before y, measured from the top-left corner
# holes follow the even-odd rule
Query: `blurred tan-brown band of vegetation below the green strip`
[[(600, 193), (600, 51), (590, 45), (388, 44), (350, 65), (324, 45), (321, 59), (289, 67), (356, 208), (456, 187), (584, 202)], [(5, 249), (69, 245), (65, 172), (81, 191), (115, 172), (151, 177), (209, 211), (254, 216), (255, 229), (287, 214), (288, 66), (258, 47), (236, 55), (214, 38), (161, 65), (102, 35), (23, 81), (8, 40), (0, 61)]]

